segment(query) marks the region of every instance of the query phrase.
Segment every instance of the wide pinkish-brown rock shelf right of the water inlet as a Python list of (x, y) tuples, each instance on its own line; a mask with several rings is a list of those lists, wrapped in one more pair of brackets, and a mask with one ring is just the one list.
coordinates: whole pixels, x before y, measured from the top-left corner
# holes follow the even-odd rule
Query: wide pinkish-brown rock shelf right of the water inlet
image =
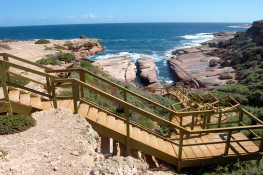
[(230, 39), (234, 32), (213, 33), (215, 39), (200, 43), (200, 46), (172, 51), (168, 60), (176, 84), (186, 88), (212, 89), (225, 83), (233, 83), (235, 70), (218, 56), (209, 53), (216, 50), (223, 41)]

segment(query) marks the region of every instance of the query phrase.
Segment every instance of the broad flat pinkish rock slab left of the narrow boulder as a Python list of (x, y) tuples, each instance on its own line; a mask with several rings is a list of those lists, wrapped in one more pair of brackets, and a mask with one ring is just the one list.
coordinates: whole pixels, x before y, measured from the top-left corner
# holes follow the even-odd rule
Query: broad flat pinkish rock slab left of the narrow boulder
[(122, 82), (131, 83), (136, 79), (136, 66), (126, 56), (110, 57), (95, 61), (92, 64), (97, 65), (102, 72), (106, 71), (113, 78)]

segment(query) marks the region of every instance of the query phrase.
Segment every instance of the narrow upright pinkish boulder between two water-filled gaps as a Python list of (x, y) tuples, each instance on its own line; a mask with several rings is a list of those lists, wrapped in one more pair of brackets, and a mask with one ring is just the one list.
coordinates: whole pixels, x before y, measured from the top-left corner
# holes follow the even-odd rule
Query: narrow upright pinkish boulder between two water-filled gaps
[(151, 84), (157, 81), (156, 68), (153, 58), (141, 57), (137, 59), (140, 81)]

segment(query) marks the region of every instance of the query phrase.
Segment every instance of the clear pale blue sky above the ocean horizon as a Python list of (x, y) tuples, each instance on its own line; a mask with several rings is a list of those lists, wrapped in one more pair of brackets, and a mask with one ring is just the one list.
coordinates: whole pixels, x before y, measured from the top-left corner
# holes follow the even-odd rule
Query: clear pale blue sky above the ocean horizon
[(119, 22), (247, 22), (263, 0), (0, 0), (0, 26)]

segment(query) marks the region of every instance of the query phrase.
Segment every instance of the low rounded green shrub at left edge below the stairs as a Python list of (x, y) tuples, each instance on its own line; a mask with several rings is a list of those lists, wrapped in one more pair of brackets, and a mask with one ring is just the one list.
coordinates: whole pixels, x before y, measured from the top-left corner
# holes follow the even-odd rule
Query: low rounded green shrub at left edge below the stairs
[(18, 115), (0, 115), (0, 135), (12, 134), (24, 131), (36, 123), (31, 116)]

